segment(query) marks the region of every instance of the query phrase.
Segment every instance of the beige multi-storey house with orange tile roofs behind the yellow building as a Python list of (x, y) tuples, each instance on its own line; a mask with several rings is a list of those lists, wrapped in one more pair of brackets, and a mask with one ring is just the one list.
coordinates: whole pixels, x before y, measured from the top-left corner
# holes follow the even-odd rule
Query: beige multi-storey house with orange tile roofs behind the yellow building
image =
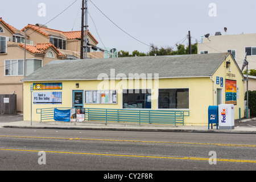
[[(26, 28), (26, 67), (24, 68), (24, 30)], [(63, 32), (28, 24), (17, 30), (0, 18), (0, 94), (16, 94), (16, 111), (23, 113), (24, 70), (26, 76), (52, 60), (80, 59), (81, 31)], [(88, 43), (97, 40), (88, 31)], [(88, 58), (102, 58), (103, 52), (91, 52)]]

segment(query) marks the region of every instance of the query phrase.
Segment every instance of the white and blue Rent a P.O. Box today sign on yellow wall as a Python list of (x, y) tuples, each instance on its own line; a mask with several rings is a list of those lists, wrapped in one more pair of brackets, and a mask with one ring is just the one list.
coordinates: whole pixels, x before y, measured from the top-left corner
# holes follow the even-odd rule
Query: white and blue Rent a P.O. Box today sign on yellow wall
[(33, 92), (34, 104), (62, 104), (62, 92)]

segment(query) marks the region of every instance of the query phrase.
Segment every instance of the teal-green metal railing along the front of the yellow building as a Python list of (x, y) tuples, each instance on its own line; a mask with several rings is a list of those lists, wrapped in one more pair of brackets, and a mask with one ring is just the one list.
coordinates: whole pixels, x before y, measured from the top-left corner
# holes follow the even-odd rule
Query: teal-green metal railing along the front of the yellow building
[[(71, 109), (67, 107), (56, 107), (57, 109)], [(41, 122), (53, 119), (54, 107), (37, 109), (36, 113), (41, 114)], [(85, 121), (112, 121), (112, 122), (135, 122), (135, 123), (159, 123), (174, 124), (182, 123), (184, 117), (189, 116), (189, 111), (177, 110), (129, 110), (129, 109), (98, 109), (80, 108), (85, 110)]]

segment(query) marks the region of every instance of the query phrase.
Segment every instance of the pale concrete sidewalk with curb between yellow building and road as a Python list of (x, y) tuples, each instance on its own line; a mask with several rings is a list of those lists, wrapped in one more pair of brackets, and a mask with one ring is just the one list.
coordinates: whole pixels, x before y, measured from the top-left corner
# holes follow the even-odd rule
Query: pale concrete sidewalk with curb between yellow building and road
[[(3, 116), (0, 117), (0, 119)], [(241, 124), (241, 123), (249, 123)], [(32, 125), (31, 125), (32, 124)], [(254, 125), (254, 126), (253, 126)], [(19, 129), (65, 129), (65, 130), (109, 130), (109, 131), (157, 131), (157, 132), (188, 132), (188, 133), (236, 133), (236, 134), (256, 134), (256, 118), (243, 119), (241, 122), (235, 121), (233, 130), (217, 130), (216, 126), (183, 126), (183, 125), (160, 125), (138, 123), (117, 123), (117, 122), (35, 122), (35, 121), (0, 121), (0, 127)]]

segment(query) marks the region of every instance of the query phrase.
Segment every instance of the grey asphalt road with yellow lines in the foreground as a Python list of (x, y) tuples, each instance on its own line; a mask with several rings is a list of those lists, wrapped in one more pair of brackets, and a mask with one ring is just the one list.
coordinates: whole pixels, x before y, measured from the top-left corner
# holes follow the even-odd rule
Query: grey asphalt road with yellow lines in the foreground
[(4, 128), (0, 134), (1, 171), (256, 169), (255, 134)]

